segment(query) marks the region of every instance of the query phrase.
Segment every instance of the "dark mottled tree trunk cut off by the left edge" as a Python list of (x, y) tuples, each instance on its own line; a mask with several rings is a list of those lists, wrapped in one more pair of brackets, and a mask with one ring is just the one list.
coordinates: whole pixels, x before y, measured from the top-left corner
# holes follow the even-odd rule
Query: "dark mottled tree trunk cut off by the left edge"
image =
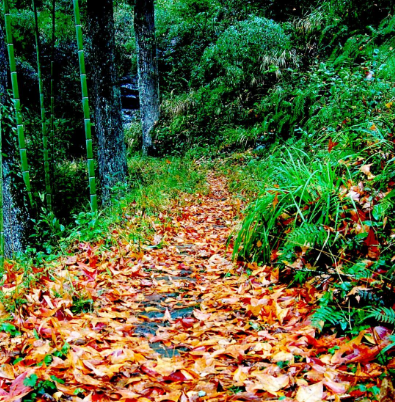
[[(7, 49), (4, 40), (3, 28), (0, 27), (0, 103), (11, 106), (7, 95), (8, 88), (8, 61)], [(3, 121), (4, 118), (3, 117)], [(26, 244), (29, 214), (24, 204), (26, 194), (22, 179), (18, 177), (20, 171), (17, 156), (16, 141), (9, 126), (2, 124), (3, 140), (3, 216), (5, 256), (11, 258), (15, 253), (23, 252)]]

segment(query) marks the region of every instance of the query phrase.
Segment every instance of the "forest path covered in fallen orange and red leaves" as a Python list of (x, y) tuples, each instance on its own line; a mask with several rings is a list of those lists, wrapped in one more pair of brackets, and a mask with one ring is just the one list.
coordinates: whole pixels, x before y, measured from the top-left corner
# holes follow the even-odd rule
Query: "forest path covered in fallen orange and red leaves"
[[(56, 278), (42, 278), (15, 315), (21, 334), (0, 334), (5, 401), (33, 386), (47, 400), (87, 402), (344, 396), (355, 375), (343, 354), (361, 339), (316, 339), (312, 285), (287, 288), (277, 270), (231, 262), (237, 204), (224, 178), (208, 182), (207, 195), (185, 195), (153, 223), (153, 244), (142, 251), (121, 236), (111, 251), (81, 244)], [(89, 295), (92, 311), (72, 292)]]

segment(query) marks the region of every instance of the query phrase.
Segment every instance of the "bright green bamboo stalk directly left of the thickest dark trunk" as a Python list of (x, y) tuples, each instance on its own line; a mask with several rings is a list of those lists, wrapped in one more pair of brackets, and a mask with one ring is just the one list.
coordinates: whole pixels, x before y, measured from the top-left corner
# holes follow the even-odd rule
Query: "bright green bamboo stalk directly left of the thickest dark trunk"
[(95, 177), (95, 165), (93, 160), (92, 129), (91, 129), (91, 118), (89, 112), (88, 84), (86, 79), (84, 47), (82, 40), (82, 26), (81, 26), (80, 8), (78, 0), (73, 0), (73, 5), (74, 5), (75, 30), (77, 35), (78, 60), (80, 65), (82, 109), (84, 111), (90, 203), (92, 211), (97, 211), (96, 177)]

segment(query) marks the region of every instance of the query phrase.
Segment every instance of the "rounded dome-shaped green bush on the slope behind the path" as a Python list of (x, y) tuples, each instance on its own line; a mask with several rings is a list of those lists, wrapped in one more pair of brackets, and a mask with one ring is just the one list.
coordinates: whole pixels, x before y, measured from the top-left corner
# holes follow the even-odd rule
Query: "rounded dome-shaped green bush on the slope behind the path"
[(291, 59), (290, 41), (279, 24), (250, 17), (226, 29), (206, 48), (194, 74), (199, 83), (233, 89), (262, 85)]

